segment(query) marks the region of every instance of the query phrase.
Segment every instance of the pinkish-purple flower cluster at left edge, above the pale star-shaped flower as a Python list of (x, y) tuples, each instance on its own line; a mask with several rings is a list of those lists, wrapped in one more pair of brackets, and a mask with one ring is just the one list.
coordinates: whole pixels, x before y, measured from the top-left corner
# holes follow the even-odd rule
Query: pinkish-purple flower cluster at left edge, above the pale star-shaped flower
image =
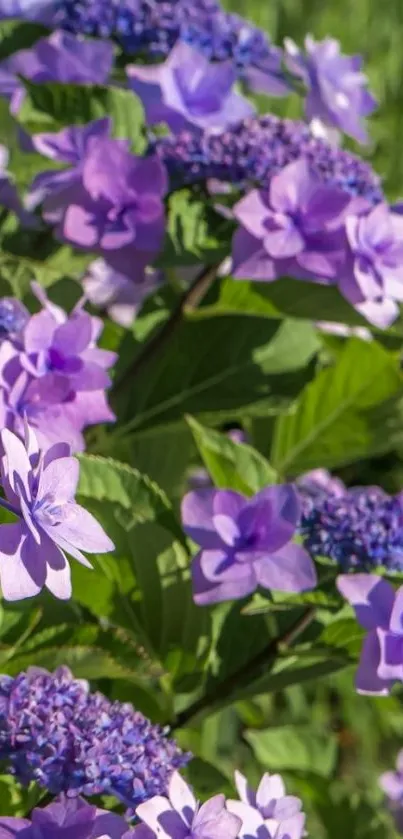
[(26, 419), (41, 447), (60, 441), (80, 451), (87, 426), (114, 419), (105, 389), (116, 355), (97, 347), (103, 324), (84, 311), (82, 301), (67, 315), (35, 284), (33, 290), (43, 308), (28, 319), (20, 306), (10, 313), (9, 301), (3, 303), (8, 318), (0, 344), (1, 425), (23, 436)]

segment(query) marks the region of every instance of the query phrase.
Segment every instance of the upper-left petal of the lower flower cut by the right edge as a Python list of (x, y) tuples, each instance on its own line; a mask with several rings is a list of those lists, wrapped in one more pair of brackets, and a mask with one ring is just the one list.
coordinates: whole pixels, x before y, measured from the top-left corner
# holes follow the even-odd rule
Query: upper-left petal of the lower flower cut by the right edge
[(337, 588), (353, 606), (364, 629), (389, 628), (395, 592), (390, 583), (375, 574), (341, 574)]

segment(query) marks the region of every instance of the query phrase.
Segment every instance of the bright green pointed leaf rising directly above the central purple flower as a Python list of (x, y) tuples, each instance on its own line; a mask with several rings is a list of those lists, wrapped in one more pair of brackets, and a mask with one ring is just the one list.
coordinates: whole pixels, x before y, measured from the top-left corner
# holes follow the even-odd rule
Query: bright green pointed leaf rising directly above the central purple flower
[(196, 446), (215, 486), (253, 495), (276, 481), (270, 464), (252, 446), (234, 443), (226, 434), (187, 417)]

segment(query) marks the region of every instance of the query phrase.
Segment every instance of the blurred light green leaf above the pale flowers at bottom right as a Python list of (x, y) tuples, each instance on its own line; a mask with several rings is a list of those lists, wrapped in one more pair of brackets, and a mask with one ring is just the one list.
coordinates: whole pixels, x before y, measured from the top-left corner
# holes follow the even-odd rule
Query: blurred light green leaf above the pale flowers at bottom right
[(331, 732), (314, 726), (285, 725), (264, 731), (247, 731), (245, 739), (264, 769), (291, 769), (329, 777), (335, 769), (337, 741)]

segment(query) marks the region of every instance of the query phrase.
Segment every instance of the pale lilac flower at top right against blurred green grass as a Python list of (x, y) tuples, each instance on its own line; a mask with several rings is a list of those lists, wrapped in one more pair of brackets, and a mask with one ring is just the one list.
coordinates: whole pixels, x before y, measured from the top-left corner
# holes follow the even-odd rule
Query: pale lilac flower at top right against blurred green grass
[(315, 41), (310, 35), (305, 38), (304, 53), (287, 39), (286, 54), (290, 69), (303, 79), (308, 89), (307, 119), (318, 118), (358, 142), (367, 143), (362, 118), (375, 110), (377, 101), (367, 90), (361, 56), (343, 55), (334, 38)]

